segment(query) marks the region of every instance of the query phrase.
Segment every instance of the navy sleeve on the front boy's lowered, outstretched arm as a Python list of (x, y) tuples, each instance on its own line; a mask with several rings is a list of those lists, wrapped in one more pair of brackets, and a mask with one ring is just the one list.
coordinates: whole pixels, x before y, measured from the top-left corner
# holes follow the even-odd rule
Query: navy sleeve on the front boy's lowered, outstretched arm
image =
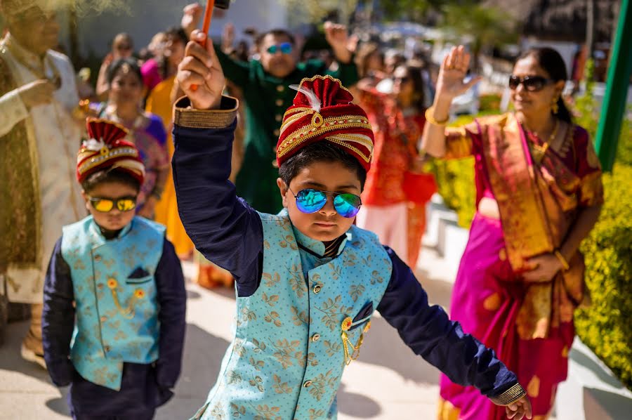
[(393, 274), (377, 310), (402, 341), (454, 383), (475, 386), (487, 397), (501, 395), (518, 383), (494, 350), (464, 333), (443, 308), (428, 305), (428, 295), (412, 270), (395, 251), (384, 248), (393, 261)]

